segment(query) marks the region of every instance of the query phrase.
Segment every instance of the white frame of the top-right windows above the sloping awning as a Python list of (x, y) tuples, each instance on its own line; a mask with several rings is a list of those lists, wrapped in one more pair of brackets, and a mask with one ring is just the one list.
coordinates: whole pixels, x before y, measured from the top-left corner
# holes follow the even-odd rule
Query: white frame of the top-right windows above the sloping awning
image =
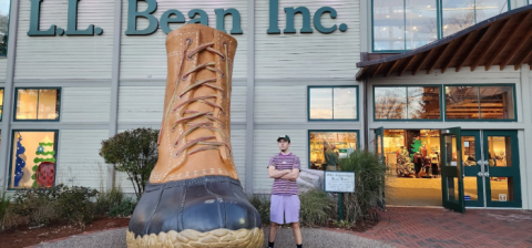
[[(409, 52), (411, 50), (408, 50), (407, 49), (407, 39), (403, 39), (405, 41), (405, 50), (375, 50), (375, 17), (374, 17), (374, 1), (375, 0), (371, 0), (371, 9), (370, 9), (370, 12), (371, 12), (371, 52), (372, 53), (405, 53), (405, 52)], [(436, 3), (436, 23), (437, 23), (437, 33), (438, 33), (438, 38), (434, 40), (434, 41), (438, 41), (443, 37), (443, 1), (442, 0), (433, 0), (434, 3)], [(477, 0), (473, 0), (474, 1), (474, 24), (477, 24)], [(530, 0), (529, 1), (529, 4), (530, 4)], [(406, 13), (407, 13), (407, 4), (406, 4), (406, 0), (402, 1), (402, 13), (403, 13), (403, 27), (407, 27), (407, 18), (406, 18)], [(508, 7), (508, 11), (512, 10), (512, 6), (511, 6), (511, 0), (507, 0), (507, 7)], [(406, 29), (405, 29), (406, 31)], [(406, 33), (406, 32), (405, 32)], [(405, 35), (406, 37), (406, 35)]]

